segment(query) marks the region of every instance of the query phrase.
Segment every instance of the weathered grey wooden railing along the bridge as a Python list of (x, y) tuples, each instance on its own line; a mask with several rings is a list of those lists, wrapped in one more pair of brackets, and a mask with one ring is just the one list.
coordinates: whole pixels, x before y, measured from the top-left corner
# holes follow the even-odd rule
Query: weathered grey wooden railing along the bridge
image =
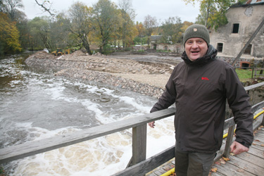
[[(264, 82), (245, 87), (245, 89), (246, 91), (249, 91), (263, 85)], [(263, 107), (264, 101), (257, 103), (253, 106), (252, 112), (255, 113)], [(128, 165), (130, 167), (126, 169), (124, 168), (125, 170), (118, 172), (115, 175), (145, 175), (147, 172), (157, 168), (163, 163), (166, 163), (175, 156), (175, 146), (171, 146), (169, 149), (158, 153), (156, 156), (152, 156), (151, 158), (146, 159), (146, 124), (148, 122), (161, 120), (162, 118), (167, 118), (171, 115), (175, 115), (175, 111), (175, 108), (168, 108), (163, 111), (141, 115), (137, 118), (131, 118), (113, 122), (111, 124), (90, 127), (86, 130), (70, 132), (68, 134), (50, 137), (39, 141), (26, 142), (24, 144), (19, 144), (16, 146), (9, 146), (7, 148), (0, 149), (0, 164), (132, 128), (132, 160)], [(253, 128), (256, 129), (260, 124), (261, 121), (256, 120)], [(232, 142), (234, 125), (235, 124), (233, 118), (225, 120), (225, 129), (229, 128), (230, 133), (227, 137), (226, 147), (222, 146), (223, 149), (218, 152), (217, 158), (221, 158), (222, 155), (228, 155), (228, 145), (230, 145), (230, 142)]]

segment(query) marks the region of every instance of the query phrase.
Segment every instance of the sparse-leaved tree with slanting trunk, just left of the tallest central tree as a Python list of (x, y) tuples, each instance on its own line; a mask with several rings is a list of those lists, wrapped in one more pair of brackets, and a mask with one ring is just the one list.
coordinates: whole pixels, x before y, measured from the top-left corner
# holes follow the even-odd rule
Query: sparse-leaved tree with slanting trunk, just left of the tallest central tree
[(70, 32), (80, 38), (88, 54), (92, 54), (89, 46), (89, 34), (92, 32), (92, 8), (88, 8), (81, 2), (71, 6), (70, 10)]

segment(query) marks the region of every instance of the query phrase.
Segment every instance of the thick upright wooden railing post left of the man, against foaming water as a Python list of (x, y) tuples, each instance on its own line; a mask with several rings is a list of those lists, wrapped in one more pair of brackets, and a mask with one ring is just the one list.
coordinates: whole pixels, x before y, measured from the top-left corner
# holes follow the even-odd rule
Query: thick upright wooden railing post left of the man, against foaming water
[(132, 165), (146, 160), (146, 124), (132, 129)]

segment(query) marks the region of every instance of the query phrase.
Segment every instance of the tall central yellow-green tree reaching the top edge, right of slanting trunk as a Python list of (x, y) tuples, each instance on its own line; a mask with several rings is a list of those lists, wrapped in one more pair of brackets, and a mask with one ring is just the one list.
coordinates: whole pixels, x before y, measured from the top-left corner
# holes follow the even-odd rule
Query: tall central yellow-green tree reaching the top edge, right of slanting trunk
[(109, 0), (99, 0), (94, 5), (93, 15), (96, 35), (101, 39), (100, 51), (106, 51), (116, 25), (120, 24), (117, 8)]

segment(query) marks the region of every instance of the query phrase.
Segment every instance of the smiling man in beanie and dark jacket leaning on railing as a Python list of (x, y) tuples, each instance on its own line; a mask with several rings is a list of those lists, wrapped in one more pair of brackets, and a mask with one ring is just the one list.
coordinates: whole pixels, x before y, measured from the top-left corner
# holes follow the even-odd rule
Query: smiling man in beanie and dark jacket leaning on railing
[[(191, 25), (184, 32), (184, 62), (175, 66), (165, 92), (151, 113), (175, 103), (175, 172), (208, 176), (216, 151), (222, 145), (226, 99), (237, 124), (231, 151), (249, 151), (253, 142), (253, 115), (249, 96), (232, 66), (216, 58), (203, 25)], [(149, 126), (154, 127), (155, 122)]]

